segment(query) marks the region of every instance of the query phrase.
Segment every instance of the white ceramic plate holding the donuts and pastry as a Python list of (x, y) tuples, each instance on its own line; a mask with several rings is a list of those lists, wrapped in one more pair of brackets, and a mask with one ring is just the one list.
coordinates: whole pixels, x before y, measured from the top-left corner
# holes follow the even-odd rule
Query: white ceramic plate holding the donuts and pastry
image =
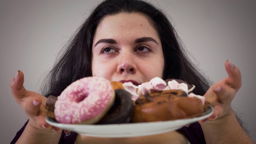
[(147, 136), (153, 134), (161, 134), (182, 128), (187, 124), (192, 124), (199, 120), (203, 120), (211, 116), (214, 112), (212, 106), (202, 114), (200, 117), (188, 118), (181, 120), (170, 120), (162, 122), (142, 122), (142, 123), (129, 123), (129, 124), (99, 124), (99, 125), (86, 125), (86, 124), (60, 124), (46, 116), (46, 122), (52, 126), (77, 132), (78, 134), (94, 137), (135, 137)]

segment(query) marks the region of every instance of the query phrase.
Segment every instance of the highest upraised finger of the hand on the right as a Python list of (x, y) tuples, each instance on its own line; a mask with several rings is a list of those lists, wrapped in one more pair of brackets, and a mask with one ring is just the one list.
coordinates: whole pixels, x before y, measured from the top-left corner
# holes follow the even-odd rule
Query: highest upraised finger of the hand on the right
[(228, 73), (228, 84), (238, 90), (242, 86), (242, 76), (238, 67), (236, 67), (230, 60), (226, 60), (225, 68)]

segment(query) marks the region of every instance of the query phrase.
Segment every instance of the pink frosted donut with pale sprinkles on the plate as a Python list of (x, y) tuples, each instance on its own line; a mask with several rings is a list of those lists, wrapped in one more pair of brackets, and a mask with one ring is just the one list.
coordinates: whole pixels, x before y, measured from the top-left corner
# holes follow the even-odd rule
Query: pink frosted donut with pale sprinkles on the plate
[(64, 124), (94, 124), (108, 112), (114, 98), (115, 92), (109, 80), (81, 78), (58, 96), (55, 118)]

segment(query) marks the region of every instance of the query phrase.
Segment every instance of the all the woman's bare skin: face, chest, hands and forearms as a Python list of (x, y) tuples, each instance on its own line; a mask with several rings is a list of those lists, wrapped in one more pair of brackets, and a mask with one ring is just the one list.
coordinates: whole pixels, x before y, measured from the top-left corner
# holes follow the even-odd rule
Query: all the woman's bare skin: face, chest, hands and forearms
[[(156, 42), (152, 40), (135, 42), (136, 39), (144, 37), (153, 38)], [(99, 42), (102, 39), (113, 39), (115, 43), (113, 41)], [(141, 47), (141, 44), (144, 45), (144, 48)], [(106, 49), (107, 46), (111, 46), (111, 48)], [(151, 51), (145, 47), (150, 48)], [(103, 48), (105, 49), (102, 50)], [(102, 76), (115, 81), (136, 80), (134, 83), (141, 84), (156, 76), (162, 77), (164, 65), (161, 64), (163, 63), (160, 39), (145, 16), (121, 13), (106, 16), (99, 24), (93, 42), (93, 76)], [(214, 84), (204, 95), (206, 100), (214, 106), (214, 114), (208, 119), (200, 121), (206, 143), (248, 142), (253, 144), (238, 124), (230, 107), (231, 101), (242, 84), (240, 70), (228, 60), (225, 62), (225, 68), (228, 77)], [(50, 126), (44, 120), (46, 116), (44, 105), (47, 98), (26, 90), (23, 83), (24, 74), (21, 71), (18, 71), (10, 82), (14, 99), (30, 119), (17, 143), (58, 144), (62, 130)], [(231, 142), (232, 140), (235, 142)], [(93, 143), (186, 143), (185, 137), (175, 131), (138, 138), (93, 138), (78, 135), (77, 143), (82, 141)]]

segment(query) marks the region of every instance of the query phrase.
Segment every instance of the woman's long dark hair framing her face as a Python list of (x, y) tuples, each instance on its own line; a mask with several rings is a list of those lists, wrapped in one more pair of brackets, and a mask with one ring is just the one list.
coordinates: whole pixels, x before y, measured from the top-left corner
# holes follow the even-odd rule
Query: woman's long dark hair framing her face
[(209, 88), (208, 80), (190, 62), (172, 24), (159, 8), (142, 0), (105, 0), (98, 4), (62, 49), (56, 64), (45, 78), (42, 90), (44, 95), (58, 96), (72, 82), (92, 76), (94, 32), (102, 18), (120, 12), (143, 14), (157, 30), (164, 53), (164, 79), (176, 78), (194, 84), (195, 94), (203, 95), (206, 92)]

